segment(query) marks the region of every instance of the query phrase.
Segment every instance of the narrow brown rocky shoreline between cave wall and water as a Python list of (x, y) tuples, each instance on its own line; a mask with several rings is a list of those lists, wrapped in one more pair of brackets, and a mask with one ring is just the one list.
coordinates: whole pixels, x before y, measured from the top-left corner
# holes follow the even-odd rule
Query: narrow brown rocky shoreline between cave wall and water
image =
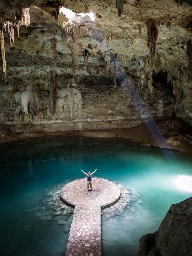
[(130, 141), (135, 141), (143, 146), (154, 146), (165, 149), (179, 150), (182, 152), (192, 153), (192, 145), (185, 140), (182, 135), (164, 136), (159, 135), (159, 142), (157, 142), (144, 124), (128, 128), (128, 129), (108, 129), (108, 130), (76, 130), (66, 132), (33, 132), (12, 134), (0, 128), (0, 144), (22, 140), (26, 138), (44, 137), (50, 135), (75, 137), (92, 137), (92, 138), (125, 138)]

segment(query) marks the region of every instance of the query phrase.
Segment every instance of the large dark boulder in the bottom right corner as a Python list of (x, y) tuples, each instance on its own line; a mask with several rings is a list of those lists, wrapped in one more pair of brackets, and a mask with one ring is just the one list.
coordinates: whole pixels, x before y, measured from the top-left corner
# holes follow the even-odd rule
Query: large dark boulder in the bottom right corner
[(192, 197), (173, 204), (159, 230), (139, 240), (136, 256), (191, 256)]

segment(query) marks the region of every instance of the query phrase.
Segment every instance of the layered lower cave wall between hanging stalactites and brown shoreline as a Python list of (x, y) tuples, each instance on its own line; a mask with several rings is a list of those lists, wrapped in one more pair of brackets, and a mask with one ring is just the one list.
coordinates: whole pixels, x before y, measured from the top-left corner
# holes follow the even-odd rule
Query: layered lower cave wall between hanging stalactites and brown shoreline
[[(151, 95), (139, 78), (126, 76), (121, 84), (114, 85), (113, 76), (105, 76), (105, 67), (95, 75), (95, 69), (89, 70), (88, 78), (54, 77), (54, 112), (51, 113), (50, 102), (43, 110), (33, 114), (32, 111), (21, 113), (20, 105), (15, 101), (17, 92), (35, 90), (39, 98), (50, 97), (50, 81), (39, 86), (37, 80), (27, 80), (27, 84), (13, 80), (10, 86), (1, 87), (0, 116), (1, 124), (15, 133), (30, 131), (64, 131), (80, 129), (111, 129), (138, 126), (152, 117), (160, 119), (172, 117), (174, 113), (174, 95), (154, 88)], [(101, 75), (102, 78), (101, 79)], [(119, 76), (121, 78), (121, 70)], [(46, 75), (41, 74), (40, 77)], [(65, 76), (64, 76), (65, 77)], [(93, 80), (97, 80), (94, 83)], [(44, 81), (44, 79), (43, 79)], [(120, 79), (121, 81), (121, 79)], [(106, 84), (103, 84), (106, 83)], [(161, 96), (159, 98), (159, 96)]]

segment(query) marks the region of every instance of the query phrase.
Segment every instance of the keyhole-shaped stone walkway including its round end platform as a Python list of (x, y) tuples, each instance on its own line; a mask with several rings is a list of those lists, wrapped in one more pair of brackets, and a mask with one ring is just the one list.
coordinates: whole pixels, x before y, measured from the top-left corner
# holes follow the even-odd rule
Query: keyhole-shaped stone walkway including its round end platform
[(62, 199), (75, 206), (66, 256), (101, 256), (101, 207), (115, 202), (121, 190), (102, 178), (92, 178), (92, 183), (94, 191), (87, 192), (85, 178), (61, 190)]

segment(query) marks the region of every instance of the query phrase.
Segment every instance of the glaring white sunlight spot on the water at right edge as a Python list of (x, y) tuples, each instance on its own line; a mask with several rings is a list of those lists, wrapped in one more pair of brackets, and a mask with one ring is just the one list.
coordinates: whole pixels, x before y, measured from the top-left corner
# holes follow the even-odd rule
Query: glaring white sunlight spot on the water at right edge
[(192, 176), (178, 175), (174, 180), (174, 184), (180, 190), (192, 192)]

